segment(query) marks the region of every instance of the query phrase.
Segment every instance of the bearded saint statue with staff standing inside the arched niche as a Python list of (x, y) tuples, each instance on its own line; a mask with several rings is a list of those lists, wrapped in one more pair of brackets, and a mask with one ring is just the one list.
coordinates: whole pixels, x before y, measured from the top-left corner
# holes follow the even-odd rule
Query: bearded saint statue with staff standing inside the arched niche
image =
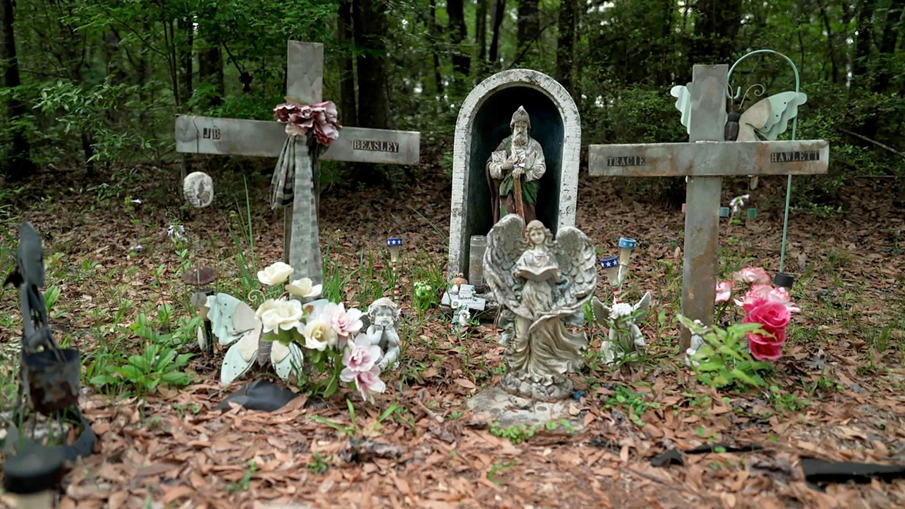
[(547, 171), (544, 149), (537, 139), (529, 136), (531, 119), (524, 106), (512, 114), (512, 135), (500, 142), (487, 160), (487, 181), (491, 187), (493, 223), (501, 216), (516, 213), (515, 178), (520, 179), (522, 210), (525, 223), (537, 219), (535, 204), (538, 199), (540, 178)]

